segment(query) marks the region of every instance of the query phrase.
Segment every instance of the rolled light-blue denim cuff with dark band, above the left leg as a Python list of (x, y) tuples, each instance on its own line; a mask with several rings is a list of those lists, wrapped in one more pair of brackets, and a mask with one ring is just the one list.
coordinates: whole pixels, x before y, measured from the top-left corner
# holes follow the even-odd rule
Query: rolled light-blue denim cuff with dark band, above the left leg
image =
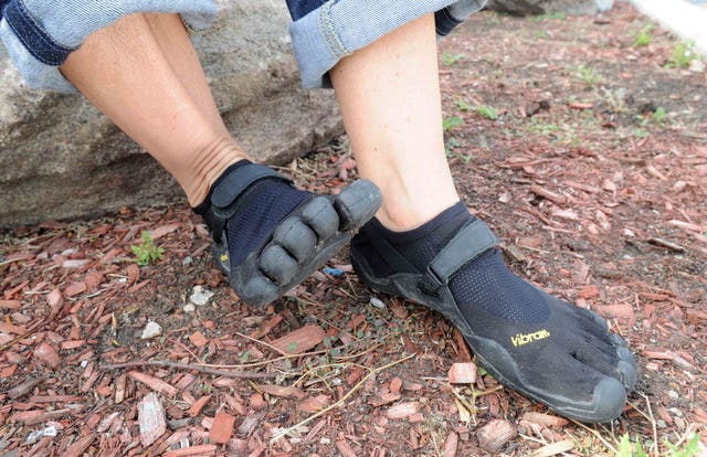
[(66, 57), (98, 29), (137, 12), (179, 13), (194, 30), (217, 14), (211, 0), (9, 0), (0, 38), (22, 78), (33, 88), (75, 93), (59, 71)]

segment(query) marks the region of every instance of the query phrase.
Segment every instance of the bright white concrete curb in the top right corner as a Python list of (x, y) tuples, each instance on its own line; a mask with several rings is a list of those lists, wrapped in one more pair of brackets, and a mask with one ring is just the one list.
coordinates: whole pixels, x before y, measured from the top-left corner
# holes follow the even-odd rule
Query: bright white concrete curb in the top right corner
[(634, 7), (683, 40), (707, 53), (707, 9), (683, 0), (630, 0)]

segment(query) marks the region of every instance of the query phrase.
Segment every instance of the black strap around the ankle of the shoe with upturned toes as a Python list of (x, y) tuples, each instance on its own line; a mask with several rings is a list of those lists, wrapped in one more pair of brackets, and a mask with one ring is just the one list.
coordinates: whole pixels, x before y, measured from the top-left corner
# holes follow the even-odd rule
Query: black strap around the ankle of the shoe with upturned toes
[(268, 167), (258, 163), (249, 163), (229, 172), (219, 180), (211, 192), (211, 210), (214, 214), (212, 221), (214, 238), (220, 240), (221, 231), (226, 221), (239, 209), (238, 200), (256, 181), (263, 179), (282, 181), (292, 184), (292, 181)]

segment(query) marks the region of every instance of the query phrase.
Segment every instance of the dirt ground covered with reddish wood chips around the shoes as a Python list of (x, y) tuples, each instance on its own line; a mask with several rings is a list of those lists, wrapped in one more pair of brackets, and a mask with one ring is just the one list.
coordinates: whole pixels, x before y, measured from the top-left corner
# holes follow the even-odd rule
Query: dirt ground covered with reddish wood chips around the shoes
[[(678, 42), (647, 23), (622, 2), (601, 18), (483, 12), (441, 43), (464, 201), (514, 270), (599, 311), (636, 354), (639, 384), (614, 423), (564, 421), (484, 373), (450, 384), (452, 364), (473, 359), (460, 334), (362, 286), (345, 252), (249, 309), (182, 204), (1, 234), (0, 454), (593, 456), (625, 451), (627, 435), (667, 455), (665, 442), (682, 448), (693, 433), (707, 444), (707, 72), (677, 67)], [(321, 192), (356, 177), (346, 138), (283, 171)], [(143, 231), (163, 249), (147, 266), (130, 247)], [(150, 321), (161, 331), (143, 339)]]

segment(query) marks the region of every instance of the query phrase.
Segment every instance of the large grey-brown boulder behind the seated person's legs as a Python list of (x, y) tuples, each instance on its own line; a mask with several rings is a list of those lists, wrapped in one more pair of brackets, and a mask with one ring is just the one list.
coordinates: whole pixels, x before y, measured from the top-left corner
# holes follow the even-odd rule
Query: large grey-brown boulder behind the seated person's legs
[[(330, 91), (303, 91), (281, 0), (219, 0), (197, 49), (226, 126), (283, 164), (344, 130)], [(0, 45), (0, 227), (183, 201), (176, 181), (78, 96), (27, 88)]]

